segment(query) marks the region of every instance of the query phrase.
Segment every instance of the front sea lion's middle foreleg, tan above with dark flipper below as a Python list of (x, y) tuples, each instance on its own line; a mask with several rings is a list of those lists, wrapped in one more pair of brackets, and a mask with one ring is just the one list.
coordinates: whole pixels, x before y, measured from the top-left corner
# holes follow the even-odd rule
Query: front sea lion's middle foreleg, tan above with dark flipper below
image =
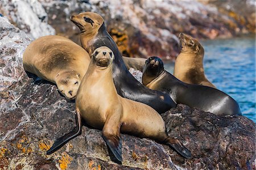
[(119, 115), (107, 117), (102, 130), (102, 138), (110, 148), (114, 156), (122, 161), (122, 140), (120, 136)]

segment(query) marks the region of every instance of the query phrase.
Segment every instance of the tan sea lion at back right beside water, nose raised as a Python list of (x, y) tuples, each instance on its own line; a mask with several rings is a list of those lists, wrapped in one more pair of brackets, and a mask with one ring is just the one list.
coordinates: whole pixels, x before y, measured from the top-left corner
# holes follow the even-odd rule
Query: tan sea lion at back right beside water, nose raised
[(216, 88), (204, 74), (204, 48), (194, 38), (181, 33), (179, 35), (180, 54), (174, 65), (174, 76), (188, 84), (205, 85)]

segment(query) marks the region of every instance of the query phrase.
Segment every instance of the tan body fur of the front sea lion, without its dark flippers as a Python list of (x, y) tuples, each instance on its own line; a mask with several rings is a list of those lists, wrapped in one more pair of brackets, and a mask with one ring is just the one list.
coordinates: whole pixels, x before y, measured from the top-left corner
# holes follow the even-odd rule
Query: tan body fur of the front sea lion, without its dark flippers
[[(102, 51), (111, 50), (100, 47), (96, 51), (97, 56), (102, 56)], [(76, 110), (88, 125), (103, 128), (103, 134), (119, 136), (120, 129), (126, 134), (163, 141), (167, 135), (162, 117), (152, 107), (117, 94), (112, 61), (105, 69), (90, 63), (77, 93)]]

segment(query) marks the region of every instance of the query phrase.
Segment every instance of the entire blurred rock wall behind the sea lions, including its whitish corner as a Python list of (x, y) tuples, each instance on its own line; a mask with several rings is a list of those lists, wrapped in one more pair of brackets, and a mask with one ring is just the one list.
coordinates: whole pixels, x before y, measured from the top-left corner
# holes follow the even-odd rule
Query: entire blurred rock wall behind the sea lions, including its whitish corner
[(174, 60), (180, 32), (204, 39), (255, 32), (255, 3), (251, 0), (11, 0), (1, 2), (0, 11), (32, 38), (55, 34), (55, 29), (57, 35), (78, 44), (79, 29), (69, 17), (84, 11), (99, 13), (123, 56), (130, 57)]

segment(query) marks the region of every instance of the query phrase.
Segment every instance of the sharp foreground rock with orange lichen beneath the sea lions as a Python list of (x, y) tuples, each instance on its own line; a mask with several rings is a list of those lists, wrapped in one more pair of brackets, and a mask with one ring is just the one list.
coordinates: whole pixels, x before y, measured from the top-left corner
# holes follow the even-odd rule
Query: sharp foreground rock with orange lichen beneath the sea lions
[[(122, 134), (122, 164), (114, 162), (100, 130), (82, 134), (46, 155), (53, 141), (75, 127), (75, 103), (55, 85), (35, 84), (23, 70), (31, 42), (0, 17), (0, 169), (253, 169), (255, 123), (242, 116), (219, 117), (185, 105), (162, 115), (168, 133), (192, 151), (190, 160), (150, 139)], [(135, 73), (138, 75), (138, 73)]]

